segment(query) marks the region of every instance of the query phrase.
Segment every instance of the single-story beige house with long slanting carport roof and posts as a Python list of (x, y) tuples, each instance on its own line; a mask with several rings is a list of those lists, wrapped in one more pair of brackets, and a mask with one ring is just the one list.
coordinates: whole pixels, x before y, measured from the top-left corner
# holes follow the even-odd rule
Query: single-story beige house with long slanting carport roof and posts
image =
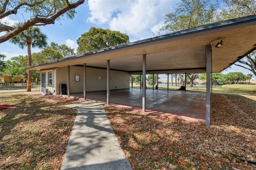
[(42, 89), (60, 94), (129, 88), (129, 75), (142, 74), (142, 111), (146, 111), (146, 74), (206, 73), (206, 124), (211, 117), (212, 72), (220, 72), (256, 49), (256, 15), (217, 22), (34, 65)]

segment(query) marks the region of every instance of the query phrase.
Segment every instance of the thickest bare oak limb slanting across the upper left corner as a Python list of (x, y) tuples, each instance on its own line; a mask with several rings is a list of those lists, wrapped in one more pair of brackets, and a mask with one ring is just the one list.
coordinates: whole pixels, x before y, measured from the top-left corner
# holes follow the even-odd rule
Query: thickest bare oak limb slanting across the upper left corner
[(75, 2), (73, 4), (69, 4), (68, 6), (65, 6), (64, 8), (55, 12), (50, 18), (33, 18), (31, 20), (28, 20), (22, 26), (14, 29), (14, 30), (8, 32), (7, 34), (5, 34), (4, 36), (0, 37), (0, 43), (6, 42), (7, 40), (12, 38), (13, 36), (18, 35), (20, 32), (28, 29), (31, 26), (34, 26), (35, 24), (38, 24), (38, 23), (42, 23), (42, 24), (45, 24), (45, 25), (54, 24), (54, 21), (56, 20), (56, 18), (58, 18), (59, 16), (61, 16), (65, 12), (67, 12), (68, 10), (76, 8), (79, 5), (83, 4), (84, 1), (85, 0), (78, 0), (77, 2)]

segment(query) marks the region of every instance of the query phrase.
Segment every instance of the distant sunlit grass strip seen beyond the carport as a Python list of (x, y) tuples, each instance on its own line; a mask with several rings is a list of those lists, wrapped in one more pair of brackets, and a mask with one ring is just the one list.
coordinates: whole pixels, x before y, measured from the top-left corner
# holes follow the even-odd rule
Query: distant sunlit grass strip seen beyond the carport
[[(133, 84), (133, 88), (140, 88), (140, 85)], [(152, 89), (152, 86), (147, 86), (148, 89)], [(154, 86), (155, 88), (155, 86)], [(176, 90), (180, 87), (169, 86), (170, 90)], [(158, 89), (167, 90), (167, 85), (158, 84)], [(206, 87), (186, 87), (188, 91), (204, 91)], [(256, 95), (256, 85), (219, 85), (212, 87), (213, 93), (226, 93), (226, 94), (240, 94), (240, 95)]]

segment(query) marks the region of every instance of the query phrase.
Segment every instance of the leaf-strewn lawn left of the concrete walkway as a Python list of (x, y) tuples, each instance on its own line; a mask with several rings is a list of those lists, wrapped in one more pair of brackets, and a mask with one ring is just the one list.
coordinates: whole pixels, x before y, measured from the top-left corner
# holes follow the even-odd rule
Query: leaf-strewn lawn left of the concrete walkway
[(74, 99), (0, 95), (0, 169), (60, 169), (76, 111)]

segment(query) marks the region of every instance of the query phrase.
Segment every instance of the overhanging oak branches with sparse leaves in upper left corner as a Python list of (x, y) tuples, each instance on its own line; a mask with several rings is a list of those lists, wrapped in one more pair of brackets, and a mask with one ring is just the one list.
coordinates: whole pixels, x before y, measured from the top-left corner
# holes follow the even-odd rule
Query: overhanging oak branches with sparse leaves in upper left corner
[[(8, 23), (0, 23), (0, 32), (6, 32), (0, 37), (0, 43), (9, 40), (31, 26), (54, 24), (55, 20), (64, 18), (73, 19), (76, 13), (75, 8), (83, 4), (84, 1), (0, 0), (0, 19), (12, 15), (22, 15), (25, 20), (19, 27), (10, 26)], [(26, 16), (29, 16), (29, 18), (25, 18)]]

